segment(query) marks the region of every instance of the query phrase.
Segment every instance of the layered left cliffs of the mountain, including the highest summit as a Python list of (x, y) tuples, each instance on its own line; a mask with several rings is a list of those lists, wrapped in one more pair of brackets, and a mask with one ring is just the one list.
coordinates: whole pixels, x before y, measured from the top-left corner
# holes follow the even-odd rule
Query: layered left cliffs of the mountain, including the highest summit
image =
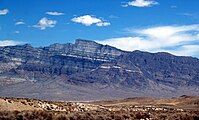
[[(33, 48), (26, 44), (0, 49), (0, 67), (3, 70), (13, 68), (15, 71), (39, 71), (52, 75), (89, 71), (122, 54), (116, 48), (80, 39), (75, 44), (53, 44), (44, 48)], [(7, 67), (3, 64), (7, 64)]]

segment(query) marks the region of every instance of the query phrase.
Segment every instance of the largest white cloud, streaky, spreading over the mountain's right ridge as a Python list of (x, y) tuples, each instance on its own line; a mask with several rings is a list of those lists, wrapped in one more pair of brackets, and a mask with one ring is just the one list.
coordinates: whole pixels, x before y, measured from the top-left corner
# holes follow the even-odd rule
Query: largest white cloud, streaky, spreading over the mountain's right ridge
[(130, 36), (97, 41), (122, 50), (170, 52), (199, 57), (199, 24), (128, 29)]

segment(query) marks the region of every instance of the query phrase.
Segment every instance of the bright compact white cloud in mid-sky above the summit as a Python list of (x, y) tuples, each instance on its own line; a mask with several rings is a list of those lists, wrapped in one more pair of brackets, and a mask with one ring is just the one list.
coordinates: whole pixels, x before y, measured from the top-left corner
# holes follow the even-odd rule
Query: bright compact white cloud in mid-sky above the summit
[(99, 27), (110, 25), (109, 22), (103, 21), (103, 20), (96, 18), (94, 16), (91, 16), (91, 15), (75, 17), (75, 18), (71, 19), (71, 21), (73, 21), (75, 23), (83, 24), (85, 26), (91, 26), (93, 24), (95, 24), (96, 26), (99, 26)]

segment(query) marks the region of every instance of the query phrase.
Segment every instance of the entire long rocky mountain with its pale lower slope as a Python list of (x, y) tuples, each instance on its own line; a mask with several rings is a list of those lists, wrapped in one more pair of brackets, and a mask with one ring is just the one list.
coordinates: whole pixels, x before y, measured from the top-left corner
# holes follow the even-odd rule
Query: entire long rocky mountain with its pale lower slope
[(0, 47), (0, 96), (100, 100), (199, 95), (199, 59), (94, 41)]

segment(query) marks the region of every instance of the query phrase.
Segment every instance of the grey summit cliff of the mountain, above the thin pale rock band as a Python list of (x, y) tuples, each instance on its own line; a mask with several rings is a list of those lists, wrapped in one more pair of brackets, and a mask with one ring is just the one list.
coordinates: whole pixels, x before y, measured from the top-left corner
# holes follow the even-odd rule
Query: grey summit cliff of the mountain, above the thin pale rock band
[(56, 55), (78, 55), (102, 59), (113, 59), (123, 53), (117, 48), (81, 39), (77, 39), (74, 44), (53, 44), (44, 47), (44, 50)]

